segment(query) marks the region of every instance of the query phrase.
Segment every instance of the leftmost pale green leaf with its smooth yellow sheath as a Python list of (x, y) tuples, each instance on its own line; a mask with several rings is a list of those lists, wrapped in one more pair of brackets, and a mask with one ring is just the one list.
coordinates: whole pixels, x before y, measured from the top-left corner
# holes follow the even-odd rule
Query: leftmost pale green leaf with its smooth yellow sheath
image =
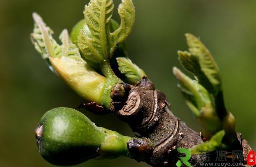
[(106, 78), (99, 75), (81, 58), (67, 30), (60, 35), (62, 45), (52, 38), (52, 31), (41, 17), (34, 13), (35, 29), (31, 37), (36, 50), (49, 61), (54, 71), (80, 96), (101, 103)]

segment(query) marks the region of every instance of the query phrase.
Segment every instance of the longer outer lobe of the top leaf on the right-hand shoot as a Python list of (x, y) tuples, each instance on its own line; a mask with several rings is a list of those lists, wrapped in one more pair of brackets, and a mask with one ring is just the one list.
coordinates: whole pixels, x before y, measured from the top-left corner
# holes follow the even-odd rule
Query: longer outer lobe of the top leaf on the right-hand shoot
[[(208, 78), (208, 80), (210, 81), (213, 87), (213, 90), (209, 89), (208, 91), (216, 95), (222, 88), (221, 88), (221, 78), (219, 74), (219, 69), (212, 55), (210, 54), (209, 50), (204, 46), (204, 44), (194, 35), (187, 33), (186, 39), (187, 39), (187, 44), (189, 46), (190, 53), (193, 56), (198, 58), (201, 71)], [(190, 71), (190, 72), (193, 73), (194, 71)], [(208, 85), (207, 82), (204, 83), (204, 80), (201, 80), (200, 84), (206, 87)]]

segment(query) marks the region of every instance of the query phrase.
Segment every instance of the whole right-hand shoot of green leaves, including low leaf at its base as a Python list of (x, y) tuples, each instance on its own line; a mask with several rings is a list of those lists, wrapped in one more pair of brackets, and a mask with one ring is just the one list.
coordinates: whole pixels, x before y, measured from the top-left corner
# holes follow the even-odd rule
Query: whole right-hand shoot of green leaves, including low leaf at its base
[[(194, 35), (186, 34), (185, 36), (189, 52), (178, 51), (178, 59), (194, 79), (176, 67), (173, 68), (173, 73), (178, 79), (178, 86), (186, 104), (201, 124), (203, 137), (209, 140), (192, 150), (194, 152), (198, 149), (213, 151), (222, 147), (221, 141), (224, 134), (235, 133), (235, 120), (233, 115), (225, 109), (221, 77), (211, 53)], [(225, 131), (221, 131), (223, 129)]]

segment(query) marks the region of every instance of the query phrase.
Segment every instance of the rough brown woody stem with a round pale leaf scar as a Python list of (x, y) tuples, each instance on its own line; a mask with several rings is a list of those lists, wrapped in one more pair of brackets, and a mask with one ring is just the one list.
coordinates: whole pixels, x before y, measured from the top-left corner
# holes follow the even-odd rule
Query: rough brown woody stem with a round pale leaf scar
[[(203, 142), (199, 133), (173, 115), (166, 96), (155, 90), (150, 80), (143, 78), (137, 85), (124, 85), (124, 88), (128, 93), (127, 97), (122, 98), (118, 90), (123, 89), (118, 89), (118, 86), (114, 88), (112, 94), (117, 94), (119, 100), (113, 100), (110, 111), (127, 122), (133, 132), (143, 137), (133, 138), (127, 143), (134, 159), (145, 161), (153, 167), (172, 167), (176, 166), (178, 158), (182, 156), (177, 148), (191, 148)], [(234, 148), (243, 150), (246, 160), (251, 147), (246, 140), (242, 140), (240, 134), (237, 137), (240, 143)], [(201, 155), (192, 155), (189, 162), (199, 167), (204, 160)]]

